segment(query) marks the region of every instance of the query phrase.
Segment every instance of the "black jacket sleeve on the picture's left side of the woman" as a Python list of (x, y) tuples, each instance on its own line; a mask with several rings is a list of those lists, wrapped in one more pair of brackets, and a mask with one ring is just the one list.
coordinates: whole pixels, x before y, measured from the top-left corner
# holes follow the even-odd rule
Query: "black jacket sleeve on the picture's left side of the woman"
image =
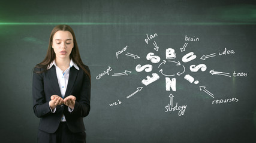
[(33, 109), (35, 116), (44, 117), (50, 114), (49, 102), (46, 101), (44, 94), (44, 82), (43, 74), (35, 73), (36, 71), (41, 71), (41, 69), (34, 68), (33, 80), (32, 80), (32, 99), (33, 99)]

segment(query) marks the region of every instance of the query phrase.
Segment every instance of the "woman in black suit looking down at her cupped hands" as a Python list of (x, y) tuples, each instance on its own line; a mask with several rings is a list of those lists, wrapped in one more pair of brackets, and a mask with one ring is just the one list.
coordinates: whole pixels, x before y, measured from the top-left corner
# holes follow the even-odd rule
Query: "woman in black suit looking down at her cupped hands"
[(85, 142), (91, 74), (70, 26), (53, 28), (46, 58), (34, 68), (32, 97), (40, 118), (38, 142)]

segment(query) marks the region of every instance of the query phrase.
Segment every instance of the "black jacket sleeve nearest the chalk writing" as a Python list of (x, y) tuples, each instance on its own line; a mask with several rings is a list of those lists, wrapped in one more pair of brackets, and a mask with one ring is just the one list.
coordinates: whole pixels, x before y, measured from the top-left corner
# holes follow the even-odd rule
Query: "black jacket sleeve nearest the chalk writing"
[[(89, 67), (86, 66), (85, 68), (90, 73)], [(79, 117), (88, 116), (91, 109), (90, 100), (91, 100), (91, 80), (87, 74), (83, 73), (83, 82), (82, 82), (82, 89), (80, 93), (80, 100), (76, 101), (74, 110), (70, 114), (74, 114), (75, 116), (79, 116)]]

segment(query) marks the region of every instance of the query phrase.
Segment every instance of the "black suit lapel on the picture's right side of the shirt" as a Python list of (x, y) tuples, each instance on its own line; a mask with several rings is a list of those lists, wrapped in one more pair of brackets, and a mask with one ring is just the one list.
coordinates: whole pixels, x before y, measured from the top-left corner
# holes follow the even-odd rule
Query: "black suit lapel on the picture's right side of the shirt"
[(70, 68), (70, 77), (68, 77), (68, 86), (65, 92), (65, 97), (68, 97), (70, 95), (71, 90), (73, 89), (74, 83), (76, 82), (77, 73), (78, 73), (78, 70), (76, 70), (76, 68), (74, 67)]

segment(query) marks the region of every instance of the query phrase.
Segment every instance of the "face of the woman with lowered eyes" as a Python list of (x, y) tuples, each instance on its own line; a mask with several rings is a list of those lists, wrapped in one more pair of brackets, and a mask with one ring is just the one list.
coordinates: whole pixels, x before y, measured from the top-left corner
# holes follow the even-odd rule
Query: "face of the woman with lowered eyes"
[(54, 49), (56, 58), (70, 58), (73, 47), (73, 36), (69, 31), (59, 30), (53, 35), (52, 48)]

